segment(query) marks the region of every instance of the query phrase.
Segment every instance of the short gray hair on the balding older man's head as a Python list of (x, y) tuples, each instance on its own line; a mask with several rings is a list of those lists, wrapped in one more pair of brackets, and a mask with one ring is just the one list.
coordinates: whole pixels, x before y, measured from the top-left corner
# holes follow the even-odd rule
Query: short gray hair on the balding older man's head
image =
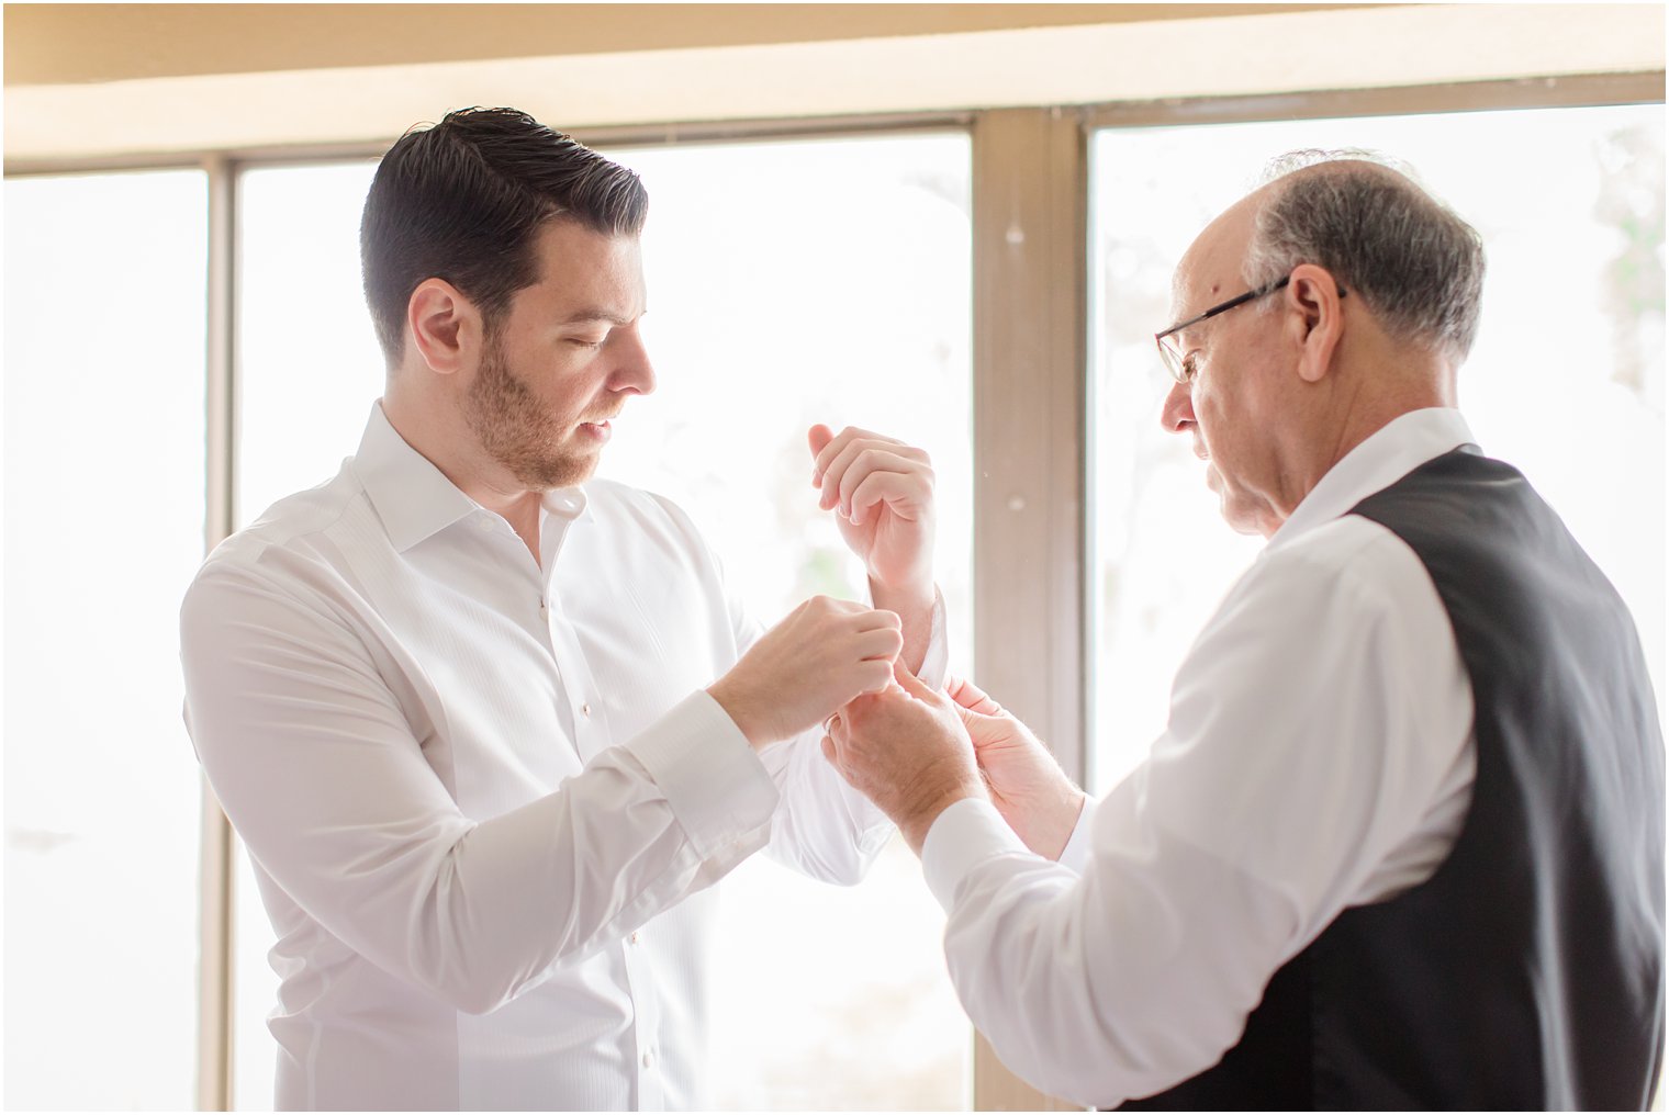
[(1253, 289), (1317, 264), (1390, 336), (1465, 359), (1477, 337), (1484, 240), (1404, 164), (1367, 150), (1298, 150), (1270, 162), (1263, 182), (1278, 185), (1247, 250)]

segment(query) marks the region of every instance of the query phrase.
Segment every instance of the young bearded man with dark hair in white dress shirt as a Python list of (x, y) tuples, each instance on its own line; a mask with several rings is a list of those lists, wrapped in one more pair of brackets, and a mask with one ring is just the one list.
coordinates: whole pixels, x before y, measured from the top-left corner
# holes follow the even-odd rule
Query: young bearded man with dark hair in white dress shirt
[(875, 608), (769, 633), (666, 501), (591, 479), (654, 387), (636, 175), (512, 110), (366, 200), (359, 452), (204, 564), (187, 721), (279, 940), (282, 1108), (706, 1103), (711, 885), (856, 881), (891, 825), (803, 736), (943, 656), (933, 474), (811, 431)]

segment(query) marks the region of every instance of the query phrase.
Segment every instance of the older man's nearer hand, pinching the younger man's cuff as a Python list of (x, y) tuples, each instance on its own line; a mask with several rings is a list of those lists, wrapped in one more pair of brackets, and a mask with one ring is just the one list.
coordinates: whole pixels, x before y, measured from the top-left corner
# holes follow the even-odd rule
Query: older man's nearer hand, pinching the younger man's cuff
[(898, 684), (861, 696), (834, 714), (823, 753), (921, 855), (921, 841), (938, 815), (963, 798), (983, 798), (985, 783), (950, 698), (921, 684), (908, 669), (896, 669), (895, 676)]

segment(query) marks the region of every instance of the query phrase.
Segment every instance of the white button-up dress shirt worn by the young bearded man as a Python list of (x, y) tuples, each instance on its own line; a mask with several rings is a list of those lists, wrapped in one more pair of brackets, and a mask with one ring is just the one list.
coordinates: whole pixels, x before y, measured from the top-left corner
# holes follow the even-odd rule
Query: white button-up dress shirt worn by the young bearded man
[(711, 885), (764, 846), (853, 883), (891, 833), (819, 733), (756, 754), (706, 694), (761, 628), (678, 507), (552, 491), (541, 551), (377, 406), (185, 598), (280, 1108), (703, 1107)]

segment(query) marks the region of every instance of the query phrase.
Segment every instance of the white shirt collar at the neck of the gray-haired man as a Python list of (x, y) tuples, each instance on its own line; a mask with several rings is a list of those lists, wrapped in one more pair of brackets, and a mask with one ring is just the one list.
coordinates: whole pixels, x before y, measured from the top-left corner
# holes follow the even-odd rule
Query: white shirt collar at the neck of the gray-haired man
[(1399, 414), (1330, 467), (1268, 544), (1273, 547), (1288, 542), (1312, 527), (1332, 522), (1432, 457), (1475, 444), (1472, 427), (1452, 407)]

